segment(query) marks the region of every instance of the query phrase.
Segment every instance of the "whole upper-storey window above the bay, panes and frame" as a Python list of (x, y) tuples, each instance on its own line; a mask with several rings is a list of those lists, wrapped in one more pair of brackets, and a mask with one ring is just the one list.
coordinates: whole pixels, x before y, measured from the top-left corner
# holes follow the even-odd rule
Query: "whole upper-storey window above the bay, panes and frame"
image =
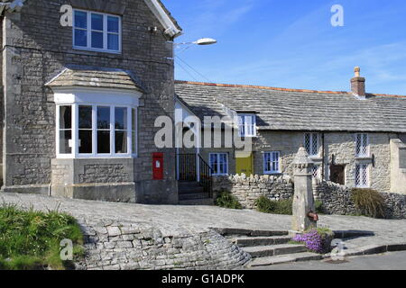
[(74, 10), (73, 48), (120, 53), (121, 17)]

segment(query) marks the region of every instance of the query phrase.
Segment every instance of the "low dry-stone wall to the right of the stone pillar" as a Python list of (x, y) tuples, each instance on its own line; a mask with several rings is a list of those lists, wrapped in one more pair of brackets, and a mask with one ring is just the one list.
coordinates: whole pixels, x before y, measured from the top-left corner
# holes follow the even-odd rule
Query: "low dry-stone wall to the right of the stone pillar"
[[(323, 202), (323, 210), (328, 214), (359, 214), (351, 200), (351, 188), (331, 182), (320, 182), (313, 186), (315, 198)], [(389, 219), (406, 219), (406, 195), (381, 193), (385, 202), (385, 215)]]

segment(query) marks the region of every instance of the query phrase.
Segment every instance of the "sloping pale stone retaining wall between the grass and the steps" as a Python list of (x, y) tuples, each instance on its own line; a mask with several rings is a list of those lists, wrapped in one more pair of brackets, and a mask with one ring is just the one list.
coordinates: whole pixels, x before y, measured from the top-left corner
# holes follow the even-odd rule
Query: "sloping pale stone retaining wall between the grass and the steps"
[(189, 235), (163, 235), (147, 224), (81, 224), (85, 260), (77, 269), (233, 269), (251, 257), (214, 230)]

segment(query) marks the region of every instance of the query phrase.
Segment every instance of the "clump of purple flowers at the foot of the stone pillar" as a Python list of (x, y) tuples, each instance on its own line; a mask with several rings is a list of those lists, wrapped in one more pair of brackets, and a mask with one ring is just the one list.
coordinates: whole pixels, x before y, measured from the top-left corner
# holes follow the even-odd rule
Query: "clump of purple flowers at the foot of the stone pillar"
[(292, 243), (303, 243), (310, 251), (325, 254), (330, 252), (331, 241), (334, 233), (327, 228), (310, 229), (304, 234), (292, 238)]

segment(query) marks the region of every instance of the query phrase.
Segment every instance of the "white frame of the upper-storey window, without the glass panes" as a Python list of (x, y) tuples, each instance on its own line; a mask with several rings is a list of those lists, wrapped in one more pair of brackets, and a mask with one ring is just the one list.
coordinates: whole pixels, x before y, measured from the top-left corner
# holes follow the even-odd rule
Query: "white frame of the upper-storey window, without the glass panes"
[[(75, 13), (77, 11), (78, 12), (84, 12), (84, 13), (87, 14), (88, 27), (86, 29), (76, 27)], [(92, 19), (91, 14), (103, 15), (103, 31), (100, 31), (100, 32), (103, 32), (103, 49), (92, 48), (92, 42), (91, 42), (92, 31), (97, 31), (97, 30), (93, 30), (92, 27), (91, 27), (91, 19)], [(107, 43), (108, 37), (107, 37), (107, 35), (108, 34), (117, 34), (115, 32), (107, 31), (107, 17), (108, 16), (118, 18), (118, 50), (107, 49), (107, 47), (108, 47), (108, 43)], [(88, 42), (87, 42), (86, 47), (75, 45), (76, 29), (82, 30), (82, 31), (85, 31), (85, 30), (87, 31), (87, 40), (88, 40)], [(89, 10), (82, 10), (82, 9), (74, 9), (73, 10), (73, 24), (72, 24), (72, 47), (73, 47), (73, 49), (121, 54), (121, 51), (122, 51), (122, 34), (123, 34), (123, 32), (122, 32), (122, 17), (119, 16), (119, 15), (98, 13), (98, 12), (89, 11)]]

